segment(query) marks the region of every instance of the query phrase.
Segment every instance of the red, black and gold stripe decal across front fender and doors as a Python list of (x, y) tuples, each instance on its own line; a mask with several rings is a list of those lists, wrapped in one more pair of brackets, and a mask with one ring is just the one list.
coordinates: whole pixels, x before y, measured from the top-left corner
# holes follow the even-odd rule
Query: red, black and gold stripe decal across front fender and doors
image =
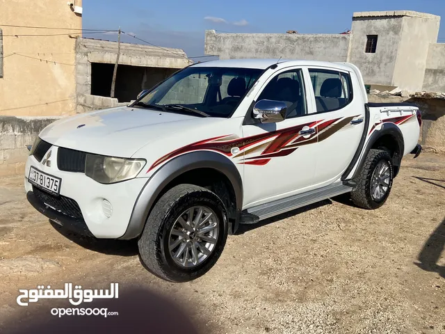
[[(147, 173), (165, 161), (181, 154), (198, 150), (209, 150), (225, 154), (226, 157), (230, 157), (237, 164), (264, 166), (272, 158), (286, 157), (302, 145), (316, 143), (317, 141), (323, 141), (329, 138), (335, 132), (349, 125), (350, 121), (357, 116), (336, 118), (334, 120), (318, 120), (316, 122), (308, 122), (295, 127), (288, 127), (286, 129), (245, 138), (239, 138), (234, 134), (229, 134), (205, 139), (204, 141), (197, 141), (196, 143), (191, 143), (165, 154), (160, 159), (154, 161), (154, 164), (150, 166)], [(301, 135), (300, 131), (302, 131), (303, 128), (314, 129), (314, 132), (312, 134)], [(232, 154), (232, 148), (238, 148), (239, 152)]]

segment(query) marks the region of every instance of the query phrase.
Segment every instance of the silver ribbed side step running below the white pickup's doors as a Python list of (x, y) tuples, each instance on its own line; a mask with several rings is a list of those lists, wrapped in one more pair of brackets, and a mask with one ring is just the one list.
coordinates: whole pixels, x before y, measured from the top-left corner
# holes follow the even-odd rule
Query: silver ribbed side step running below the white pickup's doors
[(307, 191), (281, 200), (274, 200), (266, 204), (251, 207), (241, 213), (241, 224), (252, 224), (262, 221), (263, 219), (289, 212), (299, 207), (305, 207), (321, 200), (348, 193), (353, 188), (344, 184), (331, 184), (321, 189)]

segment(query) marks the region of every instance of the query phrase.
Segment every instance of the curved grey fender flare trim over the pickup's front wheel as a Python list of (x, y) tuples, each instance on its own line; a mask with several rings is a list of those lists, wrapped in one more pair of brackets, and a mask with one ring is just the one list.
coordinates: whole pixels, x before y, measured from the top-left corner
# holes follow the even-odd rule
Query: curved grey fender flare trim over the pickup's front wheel
[(232, 183), (236, 196), (236, 209), (243, 205), (243, 180), (238, 168), (223, 154), (213, 151), (195, 151), (168, 161), (149, 177), (133, 206), (127, 230), (119, 239), (138, 237), (145, 227), (149, 212), (164, 187), (179, 175), (197, 168), (212, 168), (225, 175)]

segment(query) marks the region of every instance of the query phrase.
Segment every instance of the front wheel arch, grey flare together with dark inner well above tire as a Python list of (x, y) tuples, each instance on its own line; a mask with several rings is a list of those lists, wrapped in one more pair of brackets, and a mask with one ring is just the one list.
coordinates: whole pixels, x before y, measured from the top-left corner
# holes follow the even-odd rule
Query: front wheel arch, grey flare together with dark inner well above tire
[[(180, 183), (204, 186), (205, 181), (213, 177), (219, 177), (216, 181), (221, 181), (235, 198), (233, 207), (231, 205), (227, 210), (229, 221), (232, 223), (230, 229), (236, 230), (239, 212), (243, 205), (243, 182), (238, 168), (223, 154), (197, 151), (175, 157), (149, 177), (133, 206), (127, 230), (119, 239), (133, 239), (140, 235), (152, 207), (168, 189)], [(221, 193), (223, 189), (219, 191)], [(218, 191), (216, 193), (220, 196)], [(221, 200), (227, 205), (227, 198), (226, 201), (224, 198)]]

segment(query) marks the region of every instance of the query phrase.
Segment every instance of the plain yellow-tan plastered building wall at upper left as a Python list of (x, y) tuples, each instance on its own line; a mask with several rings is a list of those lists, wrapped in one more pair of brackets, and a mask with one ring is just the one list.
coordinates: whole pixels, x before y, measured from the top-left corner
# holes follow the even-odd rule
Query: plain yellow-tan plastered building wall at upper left
[[(81, 0), (72, 2), (81, 6)], [(74, 47), (75, 37), (81, 35), (81, 16), (73, 13), (67, 0), (0, 0), (0, 24), (74, 29), (0, 26), (3, 31), (0, 115), (55, 116), (74, 113)], [(70, 38), (68, 33), (72, 33), (74, 38)], [(23, 34), (47, 36), (8, 37)]]

